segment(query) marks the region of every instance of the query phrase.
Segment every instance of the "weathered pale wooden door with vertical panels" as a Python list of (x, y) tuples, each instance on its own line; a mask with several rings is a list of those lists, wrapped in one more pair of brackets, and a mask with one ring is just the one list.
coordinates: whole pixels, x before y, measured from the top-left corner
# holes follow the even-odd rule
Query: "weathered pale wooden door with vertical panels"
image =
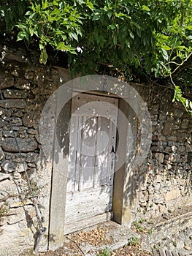
[(64, 233), (112, 218), (118, 99), (72, 99)]

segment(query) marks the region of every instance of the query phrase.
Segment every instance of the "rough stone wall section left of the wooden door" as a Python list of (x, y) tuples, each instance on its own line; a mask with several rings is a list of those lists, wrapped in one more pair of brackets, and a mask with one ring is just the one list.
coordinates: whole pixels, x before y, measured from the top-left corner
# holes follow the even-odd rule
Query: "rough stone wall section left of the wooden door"
[[(25, 171), (48, 227), (52, 166), (39, 143), (39, 118), (50, 94), (70, 75), (66, 69), (40, 65), (35, 52), (29, 56), (22, 49), (1, 48), (1, 53), (0, 255), (15, 255), (32, 251), (39, 236)], [(39, 249), (47, 249), (47, 233)]]

